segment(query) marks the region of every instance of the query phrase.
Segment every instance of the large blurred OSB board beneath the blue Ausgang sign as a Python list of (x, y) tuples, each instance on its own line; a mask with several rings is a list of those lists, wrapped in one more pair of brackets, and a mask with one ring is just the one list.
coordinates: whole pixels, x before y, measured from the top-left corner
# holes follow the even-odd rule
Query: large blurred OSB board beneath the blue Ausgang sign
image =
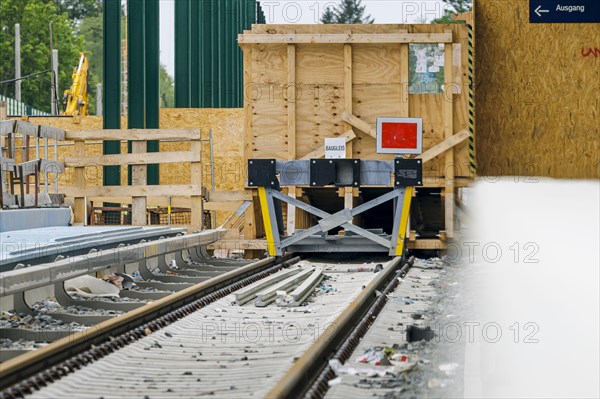
[(528, 19), (475, 3), (478, 174), (600, 178), (600, 25)]

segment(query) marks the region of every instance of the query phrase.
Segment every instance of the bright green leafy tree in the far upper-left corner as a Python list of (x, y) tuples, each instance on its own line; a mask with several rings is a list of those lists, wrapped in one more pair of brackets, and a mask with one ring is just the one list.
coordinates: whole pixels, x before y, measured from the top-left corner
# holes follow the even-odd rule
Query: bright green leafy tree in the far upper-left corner
[[(52, 0), (2, 0), (0, 1), (0, 81), (15, 76), (15, 23), (21, 24), (21, 74), (50, 69), (50, 39), (58, 49), (59, 101), (62, 90), (71, 86), (71, 74), (84, 50), (84, 39), (75, 34), (75, 24), (61, 13)], [(49, 24), (52, 22), (52, 38)], [(0, 87), (0, 93), (14, 96), (14, 84)], [(43, 111), (50, 111), (51, 74), (24, 80), (21, 85), (22, 100)]]

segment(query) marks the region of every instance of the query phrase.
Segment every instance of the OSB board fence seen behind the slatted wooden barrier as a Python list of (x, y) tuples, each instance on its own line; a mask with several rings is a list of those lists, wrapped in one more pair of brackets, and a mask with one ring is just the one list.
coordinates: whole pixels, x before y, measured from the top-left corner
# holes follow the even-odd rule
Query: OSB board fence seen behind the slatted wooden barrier
[[(51, 125), (65, 130), (102, 129), (102, 117), (85, 116), (79, 120), (72, 117), (29, 117), (31, 123)], [(127, 126), (127, 118), (121, 119), (121, 126)], [(217, 190), (238, 190), (244, 187), (243, 159), (243, 110), (233, 109), (175, 109), (160, 110), (161, 128), (200, 128), (202, 130), (202, 163), (203, 183), (211, 187), (209, 130), (213, 132), (213, 154), (215, 163), (215, 186)], [(52, 144), (52, 143), (51, 143)], [(65, 156), (75, 155), (74, 147), (69, 144), (59, 147), (59, 160)], [(161, 142), (161, 151), (189, 151), (190, 144), (185, 142)], [(127, 145), (121, 145), (121, 152), (127, 151)], [(101, 144), (86, 145), (85, 155), (100, 155)], [(30, 156), (33, 157), (33, 150)], [(78, 154), (79, 155), (79, 154)], [(53, 146), (49, 150), (50, 158), (54, 157)], [(60, 177), (60, 184), (73, 183), (73, 168), (67, 168)], [(165, 164), (160, 167), (160, 184), (189, 184), (189, 163)], [(86, 168), (86, 184), (102, 185), (102, 167)], [(127, 167), (121, 170), (121, 184), (127, 184)], [(168, 195), (168, 193), (165, 193)]]

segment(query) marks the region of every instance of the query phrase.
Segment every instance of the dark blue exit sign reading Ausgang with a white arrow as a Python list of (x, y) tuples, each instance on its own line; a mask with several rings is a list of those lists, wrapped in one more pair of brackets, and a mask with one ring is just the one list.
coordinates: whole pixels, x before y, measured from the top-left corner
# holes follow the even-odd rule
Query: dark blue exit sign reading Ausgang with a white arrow
[(529, 0), (529, 22), (600, 23), (600, 0)]

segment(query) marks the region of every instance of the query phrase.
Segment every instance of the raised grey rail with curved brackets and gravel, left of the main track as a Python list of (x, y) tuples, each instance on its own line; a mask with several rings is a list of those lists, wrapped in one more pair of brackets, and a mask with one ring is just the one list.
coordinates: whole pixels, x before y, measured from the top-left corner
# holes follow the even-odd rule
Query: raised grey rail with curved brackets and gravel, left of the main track
[[(206, 231), (152, 242), (142, 240), (134, 245), (94, 249), (85, 255), (59, 257), (52, 263), (0, 273), (3, 308), (0, 361), (31, 351), (23, 345), (18, 349), (15, 341), (26, 342), (30, 347), (45, 345), (251, 262), (208, 256), (204, 250), (206, 244), (220, 236), (220, 231)], [(134, 286), (120, 292), (88, 276), (133, 270), (138, 276)], [(118, 296), (108, 299), (69, 295), (66, 284), (73, 285), (72, 279), (81, 277), (112, 287)], [(47, 300), (48, 297), (52, 300)], [(7, 309), (12, 311), (6, 312)]]

